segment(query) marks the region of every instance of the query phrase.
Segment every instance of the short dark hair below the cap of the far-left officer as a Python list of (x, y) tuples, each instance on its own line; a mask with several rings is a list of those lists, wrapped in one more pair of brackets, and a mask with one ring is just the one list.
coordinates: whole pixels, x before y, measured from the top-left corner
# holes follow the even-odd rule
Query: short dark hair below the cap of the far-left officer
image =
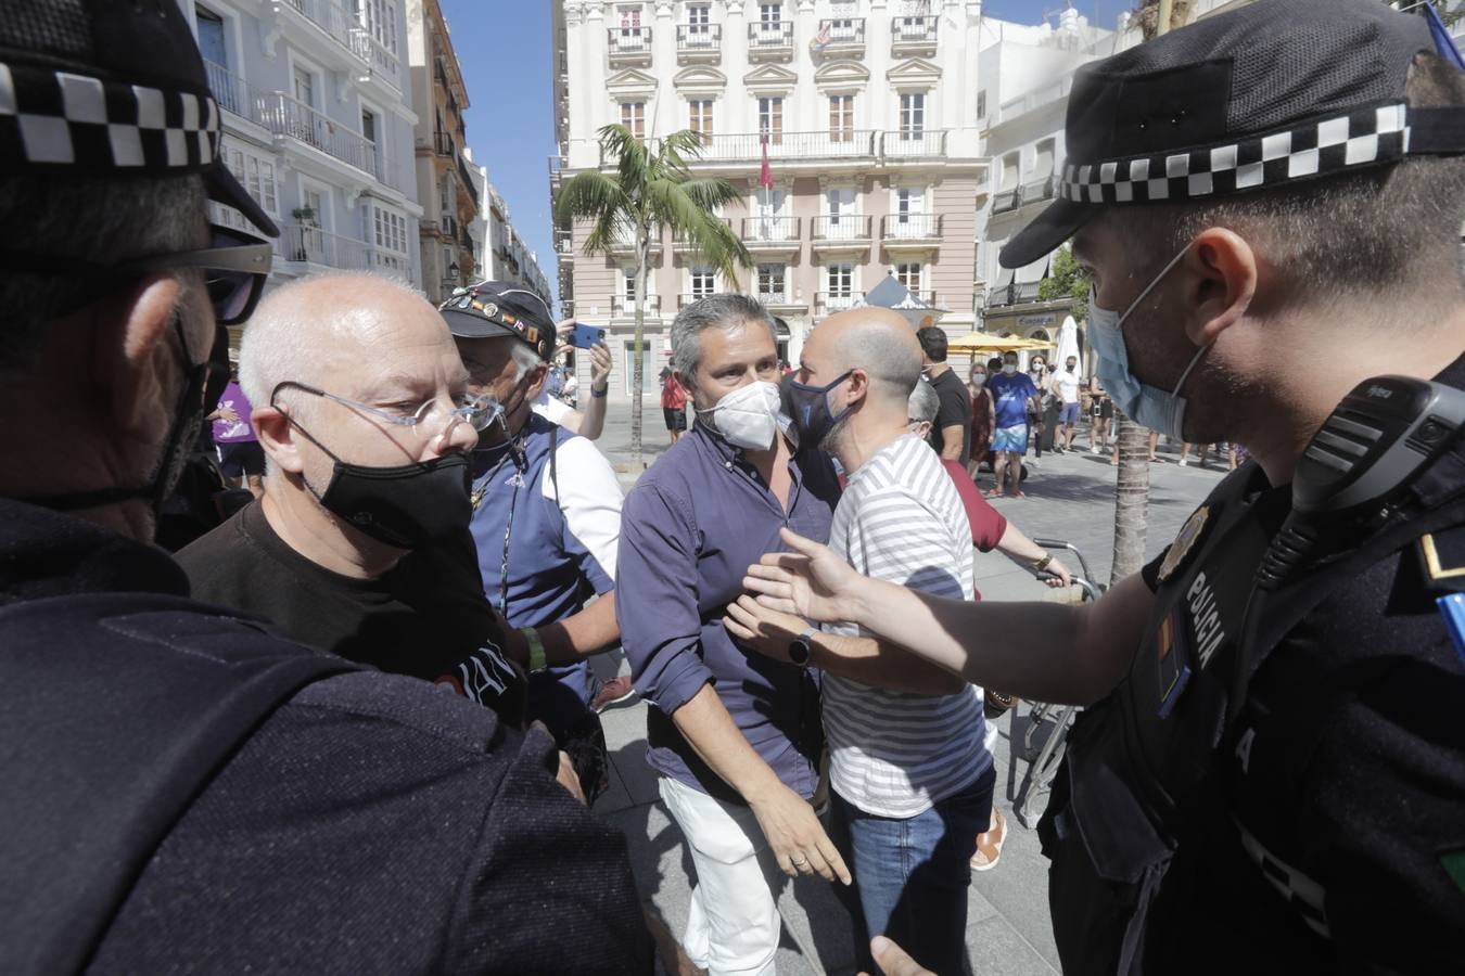
[[(208, 198), (199, 176), (100, 177), (22, 173), (0, 179), (0, 227), (10, 250), (100, 265), (204, 247)], [(84, 272), (0, 275), (0, 379), (35, 366), (45, 326), (100, 297)]]

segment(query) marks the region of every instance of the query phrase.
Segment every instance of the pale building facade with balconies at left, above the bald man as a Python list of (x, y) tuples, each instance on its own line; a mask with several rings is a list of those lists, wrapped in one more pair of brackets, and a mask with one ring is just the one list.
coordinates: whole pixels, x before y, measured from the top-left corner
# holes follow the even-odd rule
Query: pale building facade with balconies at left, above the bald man
[[(374, 271), (420, 288), (403, 0), (180, 0), (223, 152), (280, 225), (271, 282)], [(214, 205), (214, 218), (246, 227)]]

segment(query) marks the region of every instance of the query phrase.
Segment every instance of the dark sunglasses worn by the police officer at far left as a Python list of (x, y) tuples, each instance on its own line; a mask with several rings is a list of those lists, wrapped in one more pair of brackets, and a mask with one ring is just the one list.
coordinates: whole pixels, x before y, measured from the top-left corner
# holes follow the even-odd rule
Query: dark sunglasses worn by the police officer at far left
[[(253, 313), (259, 296), (264, 294), (272, 260), (274, 247), (270, 241), (217, 224), (209, 227), (208, 247), (173, 255), (149, 255), (114, 265), (60, 255), (0, 252), (0, 265), (7, 271), (94, 277), (111, 285), (136, 279), (149, 271), (199, 268), (204, 271), (204, 284), (218, 325), (237, 325)], [(95, 297), (97, 293), (82, 291), (75, 301), (63, 306), (63, 312), (79, 309)]]

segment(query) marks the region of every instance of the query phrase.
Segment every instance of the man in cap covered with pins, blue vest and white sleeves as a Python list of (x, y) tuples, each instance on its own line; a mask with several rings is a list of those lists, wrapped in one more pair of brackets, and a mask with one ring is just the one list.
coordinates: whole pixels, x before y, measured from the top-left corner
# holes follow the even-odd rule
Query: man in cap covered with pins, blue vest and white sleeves
[(595, 710), (633, 694), (627, 677), (595, 686), (585, 660), (620, 638), (611, 598), (620, 483), (593, 443), (532, 410), (557, 338), (538, 294), (483, 281), (459, 290), (440, 312), (469, 392), (494, 404), (473, 454), (470, 502), (483, 591), (524, 637), (529, 718), (544, 721), (570, 752), (593, 802), (608, 765)]

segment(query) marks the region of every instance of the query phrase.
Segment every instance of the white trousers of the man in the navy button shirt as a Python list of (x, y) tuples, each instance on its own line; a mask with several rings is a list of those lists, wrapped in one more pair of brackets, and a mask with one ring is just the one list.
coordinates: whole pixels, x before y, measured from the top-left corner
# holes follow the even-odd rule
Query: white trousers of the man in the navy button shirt
[(697, 884), (683, 948), (711, 976), (772, 976), (782, 920), (778, 891), (784, 872), (753, 811), (724, 803), (671, 777), (661, 799), (691, 847)]

